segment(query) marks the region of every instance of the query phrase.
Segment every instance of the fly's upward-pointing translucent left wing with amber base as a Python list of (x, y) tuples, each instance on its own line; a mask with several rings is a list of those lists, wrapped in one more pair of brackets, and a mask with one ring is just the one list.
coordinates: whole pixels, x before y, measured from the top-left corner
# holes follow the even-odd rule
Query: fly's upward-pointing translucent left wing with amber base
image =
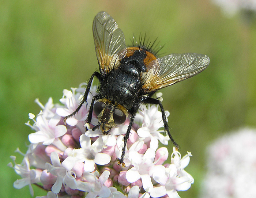
[(124, 33), (107, 12), (99, 12), (93, 20), (93, 37), (100, 71), (108, 72), (126, 54)]

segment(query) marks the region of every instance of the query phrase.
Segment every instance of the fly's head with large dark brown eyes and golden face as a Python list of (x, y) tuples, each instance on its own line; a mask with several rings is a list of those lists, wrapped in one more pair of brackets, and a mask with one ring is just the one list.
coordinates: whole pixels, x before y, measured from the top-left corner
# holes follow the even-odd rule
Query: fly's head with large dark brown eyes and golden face
[(98, 117), (96, 128), (103, 134), (108, 134), (116, 125), (123, 124), (128, 117), (128, 111), (120, 104), (108, 99), (99, 99), (94, 103), (93, 111)]

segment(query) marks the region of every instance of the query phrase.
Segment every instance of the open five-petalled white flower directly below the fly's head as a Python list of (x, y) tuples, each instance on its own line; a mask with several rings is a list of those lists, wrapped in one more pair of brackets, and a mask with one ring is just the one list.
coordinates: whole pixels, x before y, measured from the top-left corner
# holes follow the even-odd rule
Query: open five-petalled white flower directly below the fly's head
[(105, 153), (99, 153), (103, 149), (102, 142), (98, 138), (93, 144), (91, 139), (85, 134), (80, 136), (80, 149), (74, 149), (69, 156), (73, 156), (76, 161), (84, 162), (84, 171), (92, 172), (95, 169), (95, 163), (105, 165), (110, 162), (110, 156)]

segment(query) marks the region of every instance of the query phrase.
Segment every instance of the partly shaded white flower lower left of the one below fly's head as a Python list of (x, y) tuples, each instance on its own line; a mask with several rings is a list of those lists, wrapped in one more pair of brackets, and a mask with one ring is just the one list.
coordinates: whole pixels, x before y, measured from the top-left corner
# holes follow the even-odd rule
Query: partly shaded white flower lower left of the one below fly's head
[(53, 193), (59, 193), (62, 184), (67, 185), (71, 189), (76, 189), (76, 175), (72, 170), (75, 165), (75, 159), (73, 157), (67, 157), (62, 163), (57, 152), (51, 153), (52, 164), (46, 163), (46, 169), (52, 175), (57, 176), (56, 182), (52, 187)]

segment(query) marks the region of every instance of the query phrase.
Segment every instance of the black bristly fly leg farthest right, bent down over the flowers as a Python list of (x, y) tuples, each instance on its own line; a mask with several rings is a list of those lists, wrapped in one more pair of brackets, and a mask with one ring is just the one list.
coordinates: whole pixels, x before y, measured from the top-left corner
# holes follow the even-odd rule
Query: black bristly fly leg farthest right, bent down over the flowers
[(167, 119), (166, 119), (166, 115), (165, 115), (165, 110), (163, 109), (163, 105), (162, 105), (161, 101), (157, 100), (157, 99), (154, 99), (154, 98), (144, 98), (142, 100), (142, 102), (143, 103), (148, 103), (148, 104), (158, 104), (160, 106), (161, 113), (162, 113), (162, 118), (163, 118), (163, 125), (165, 127), (165, 131), (168, 133), (168, 136), (170, 137), (170, 140), (173, 142), (174, 146), (178, 149), (179, 145), (172, 138), (172, 135), (170, 133), (169, 126), (168, 126), (168, 123), (167, 123)]

